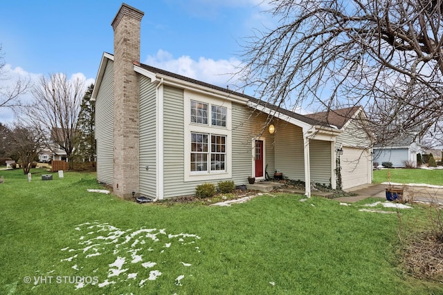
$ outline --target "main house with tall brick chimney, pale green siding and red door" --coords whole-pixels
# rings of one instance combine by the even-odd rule
[[[152,198],[193,195],[204,182],[248,176],[265,169],[293,180],[336,187],[337,151],[343,146],[343,189],[372,182],[370,137],[360,108],[342,124],[267,104],[248,95],[140,64],[143,12],[124,4],[114,28],[114,55],[104,53],[96,100],[97,179],[114,193]],[[273,125],[274,132],[269,132]],[[358,161],[357,161],[358,160]],[[356,173],[359,171],[358,180]],[[361,171],[361,172],[360,172]],[[361,173],[361,175],[360,175]]]

